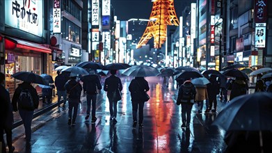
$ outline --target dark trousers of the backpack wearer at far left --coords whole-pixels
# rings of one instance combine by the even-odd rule
[[[29,143],[31,141],[31,122],[33,119],[34,111],[25,111],[19,109],[19,115],[22,118],[24,124],[24,132],[26,134],[26,142]]]

